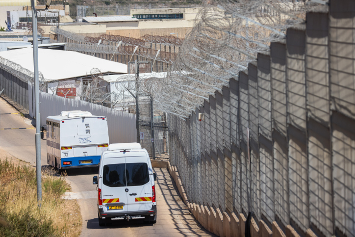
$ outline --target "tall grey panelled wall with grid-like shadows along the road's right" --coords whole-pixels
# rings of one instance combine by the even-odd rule
[[[355,2],[330,1],[189,119],[169,114],[190,202],[355,237]]]

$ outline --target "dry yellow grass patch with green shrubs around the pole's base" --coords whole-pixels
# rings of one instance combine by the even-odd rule
[[[61,196],[70,186],[66,174],[42,172],[42,204],[37,205],[36,170],[0,160],[0,236],[79,236],[81,215],[76,200]]]

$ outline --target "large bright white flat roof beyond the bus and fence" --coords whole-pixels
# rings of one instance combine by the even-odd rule
[[[0,52],[0,56],[33,72],[33,48]],[[83,53],[38,49],[38,68],[47,80],[84,77],[93,68],[101,73],[127,74],[127,65],[93,57]]]

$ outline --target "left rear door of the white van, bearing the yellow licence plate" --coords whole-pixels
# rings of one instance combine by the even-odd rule
[[[122,154],[122,153],[121,153]],[[114,157],[116,156],[116,157]],[[105,154],[102,158],[102,209],[104,212],[123,212],[127,209],[125,157]]]

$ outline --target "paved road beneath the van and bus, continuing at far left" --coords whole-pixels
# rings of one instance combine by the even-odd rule
[[[0,148],[12,156],[30,162],[35,166],[35,129],[33,121],[22,117],[11,105],[0,98]],[[1,130],[15,128],[16,130]],[[46,140],[41,140],[41,164],[47,166]],[[175,183],[166,169],[154,168],[157,174],[155,183],[157,195],[157,222],[143,224],[141,220],[118,221],[108,227],[100,227],[97,214],[96,185],[92,177],[98,168],[68,169],[67,182],[72,191],[66,194],[68,199],[77,199],[81,209],[81,236],[213,236],[204,230],[191,215],[177,193]]]

